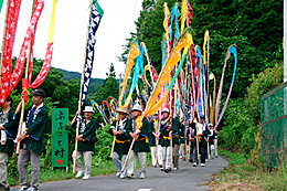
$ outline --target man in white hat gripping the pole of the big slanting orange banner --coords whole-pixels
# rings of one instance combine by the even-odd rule
[[[139,178],[146,178],[146,169],[147,169],[147,155],[149,152],[149,140],[148,136],[151,134],[150,123],[146,117],[142,119],[142,127],[140,129],[137,128],[137,118],[141,115],[142,109],[140,105],[135,105],[131,109],[132,118],[130,123],[127,125],[126,135],[130,136],[132,139],[136,138],[135,145],[129,156],[128,168],[127,168],[127,177],[135,178],[136,165],[137,165],[137,156],[139,158],[140,169],[139,169]]]

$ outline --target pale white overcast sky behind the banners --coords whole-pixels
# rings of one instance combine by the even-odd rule
[[[23,0],[17,29],[13,55],[18,56],[29,26],[33,0]],[[82,72],[84,63],[86,30],[89,18],[91,0],[57,0],[55,13],[54,53],[52,66],[67,71]],[[3,8],[6,8],[6,2]],[[116,74],[125,73],[126,65],[117,56],[123,53],[123,44],[136,31],[135,21],[139,17],[142,0],[98,0],[105,13],[96,34],[95,61],[92,77],[106,78],[106,72],[113,62]],[[45,7],[39,21],[34,45],[34,56],[44,59],[52,0],[45,0]],[[0,44],[2,44],[4,10],[0,14]]]

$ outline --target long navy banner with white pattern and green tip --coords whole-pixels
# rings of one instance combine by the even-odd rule
[[[95,55],[95,44],[96,44],[96,32],[100,23],[100,19],[104,14],[104,10],[99,7],[97,0],[93,3],[91,18],[89,18],[89,28],[88,28],[88,39],[87,39],[87,49],[86,49],[86,61],[85,61],[85,75],[83,84],[83,94],[81,99],[81,108],[85,106],[89,79],[93,71],[94,55]]]

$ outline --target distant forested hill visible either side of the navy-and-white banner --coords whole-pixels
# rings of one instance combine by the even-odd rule
[[[64,76],[63,76],[64,81],[71,81],[73,78],[78,78],[78,82],[81,81],[82,74],[78,72],[70,72],[70,71],[62,70],[62,68],[57,68],[57,70],[64,74]],[[99,87],[102,85],[104,85],[104,81],[105,79],[103,79],[103,78],[91,78],[91,83],[88,86],[88,93],[89,94],[96,93],[99,89]]]

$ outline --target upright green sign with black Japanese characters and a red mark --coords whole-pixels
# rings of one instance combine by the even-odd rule
[[[52,109],[52,167],[68,166],[67,108]]]

